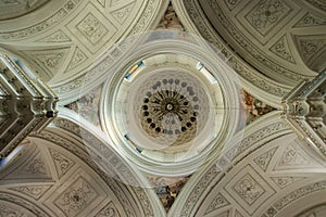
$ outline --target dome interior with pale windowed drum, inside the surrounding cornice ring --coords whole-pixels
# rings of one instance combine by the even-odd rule
[[[180,56],[187,61],[168,61]],[[196,68],[197,62],[180,54],[154,55],[138,62],[138,72],[126,74],[117,88],[116,99],[123,103],[114,106],[116,119],[122,120],[117,131],[146,157],[185,159],[214,139],[210,130],[216,128],[217,103],[210,95],[218,91],[221,95],[221,90]]]

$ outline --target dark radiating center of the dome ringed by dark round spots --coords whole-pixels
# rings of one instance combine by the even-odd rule
[[[191,131],[197,125],[199,110],[199,98],[191,86],[179,79],[163,79],[146,92],[140,110],[142,127],[150,135]]]

